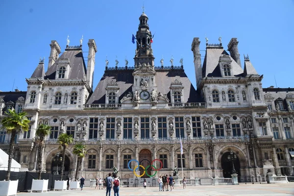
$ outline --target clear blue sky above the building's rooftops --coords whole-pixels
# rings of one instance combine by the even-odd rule
[[[293,0],[145,0],[145,13],[153,40],[155,66],[163,56],[165,65],[184,59],[184,69],[196,86],[191,44],[199,37],[202,59],[205,34],[209,43],[224,49],[232,37],[238,38],[241,62],[243,54],[259,74],[264,74],[263,87],[294,87],[294,1]],[[88,55],[88,39],[95,39],[98,52],[94,88],[104,69],[107,55],[109,67],[134,65],[135,45],[132,33],[138,30],[143,0],[1,0],[0,1],[0,90],[16,87],[26,91],[29,78],[45,57],[47,69],[50,41],[56,40],[61,50],[79,45],[84,36],[84,56]],[[202,60],[203,62],[203,60]],[[13,88],[13,82],[14,88]]]

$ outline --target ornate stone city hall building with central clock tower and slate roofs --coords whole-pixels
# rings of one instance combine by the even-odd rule
[[[152,34],[143,13],[136,33],[134,64],[109,67],[93,88],[97,45],[88,42],[87,64],[80,46],[61,47],[51,41],[49,64],[44,60],[30,78],[27,92],[0,92],[0,118],[14,108],[31,120],[29,132],[18,133],[15,159],[23,171],[35,171],[37,148],[34,134],[39,123],[48,123],[51,134],[44,151],[44,172],[60,172],[56,154],[60,133],[72,134],[74,144],[84,143],[87,155],[80,175],[105,176],[115,166],[122,178],[134,178],[138,160],[145,168],[152,162],[156,177],[183,168],[186,178],[231,177],[231,152],[239,180],[275,174],[293,175],[294,88],[263,88],[262,78],[244,56],[242,68],[237,38],[228,44],[206,43],[203,64],[199,38],[192,48],[195,88],[182,59],[159,66],[154,61]],[[159,63],[159,62],[158,62]],[[169,66],[166,66],[169,64]],[[183,147],[181,164],[180,137]],[[10,136],[0,128],[0,147],[7,150]],[[74,144],[66,152],[65,173],[76,167]],[[58,167],[59,166],[59,167]],[[129,170],[129,168],[131,170]],[[136,172],[142,175],[143,171]],[[154,171],[147,170],[148,175]],[[142,177],[148,177],[144,174]],[[182,176],[182,173],[179,172]]]

